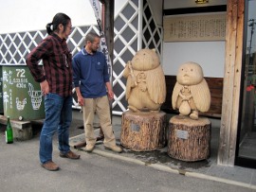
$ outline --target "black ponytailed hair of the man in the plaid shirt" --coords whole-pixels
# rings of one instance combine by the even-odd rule
[[[59,12],[57,13],[54,17],[51,23],[48,23],[46,25],[46,30],[47,33],[50,35],[53,31],[57,31],[59,30],[58,26],[60,24],[64,25],[64,30],[65,30],[65,26],[68,24],[68,22],[70,21],[70,17],[68,17],[66,14]],[[52,26],[52,28],[50,27]]]

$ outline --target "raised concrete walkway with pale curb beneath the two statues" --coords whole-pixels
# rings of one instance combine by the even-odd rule
[[[182,162],[168,156],[167,147],[155,151],[136,152],[128,148],[123,148],[122,153],[114,153],[105,150],[102,142],[98,142],[93,153],[101,156],[115,158],[129,163],[135,163],[140,166],[150,166],[157,170],[170,173],[181,174],[188,177],[200,178],[215,182],[229,183],[237,186],[247,187],[256,190],[256,170],[240,166],[217,166],[219,119],[210,119],[211,121],[211,145],[210,158],[199,162]],[[113,129],[119,144],[121,129],[121,117],[113,116]],[[96,130],[96,135],[98,131]],[[84,141],[84,134],[77,135],[70,139],[70,145]],[[84,148],[81,148],[82,150]]]

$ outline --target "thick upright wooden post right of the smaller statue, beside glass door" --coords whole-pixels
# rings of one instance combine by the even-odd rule
[[[218,164],[234,166],[240,103],[245,0],[228,0],[226,64]]]

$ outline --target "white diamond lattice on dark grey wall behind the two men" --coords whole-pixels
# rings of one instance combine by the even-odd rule
[[[147,13],[149,15],[146,15]],[[126,62],[132,60],[137,50],[141,48],[155,48],[161,59],[162,27],[156,25],[154,14],[146,0],[127,1],[116,15],[112,72],[115,96],[112,113],[121,114],[127,109],[126,82],[122,78]],[[67,39],[73,55],[81,50],[84,37],[90,31],[99,32],[98,26],[74,26]],[[46,30],[0,34],[0,64],[26,64],[27,54],[46,36]],[[81,109],[77,105],[75,95],[73,101],[73,108]]]

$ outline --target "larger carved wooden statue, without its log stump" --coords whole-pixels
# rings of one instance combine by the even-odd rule
[[[158,112],[165,101],[165,77],[155,49],[137,51],[123,71],[126,99],[133,112]]]

